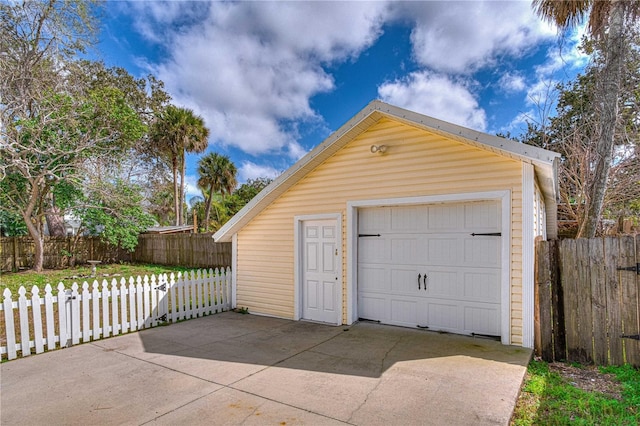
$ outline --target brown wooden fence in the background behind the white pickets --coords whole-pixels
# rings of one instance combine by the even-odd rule
[[[31,237],[0,237],[0,271],[33,266]],[[231,266],[231,243],[216,243],[211,234],[141,234],[133,253],[100,241],[99,237],[45,237],[44,268],[86,265],[87,260],[177,265],[188,268]]]

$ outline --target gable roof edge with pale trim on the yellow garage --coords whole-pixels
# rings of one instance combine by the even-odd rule
[[[560,154],[478,132],[374,100],[258,193],[213,234],[213,238],[219,242],[231,241],[233,234],[242,229],[275,199],[382,118],[389,118],[471,146],[533,164],[545,202],[547,205],[551,204],[554,208],[553,211],[555,211],[557,159]],[[555,220],[550,222],[555,225]]]

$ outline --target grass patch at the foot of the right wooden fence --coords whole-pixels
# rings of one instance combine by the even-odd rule
[[[640,370],[532,361],[512,425],[638,425]]]

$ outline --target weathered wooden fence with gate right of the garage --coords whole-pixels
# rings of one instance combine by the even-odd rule
[[[640,367],[640,235],[538,241],[536,354]]]

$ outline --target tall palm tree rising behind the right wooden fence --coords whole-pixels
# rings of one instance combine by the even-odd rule
[[[603,64],[595,93],[595,104],[599,108],[595,126],[599,131],[594,135],[597,158],[593,182],[586,197],[586,216],[578,230],[579,237],[591,238],[598,228],[613,158],[623,67],[629,46],[625,23],[632,24],[637,20],[640,1],[533,0],[533,7],[539,16],[561,29],[575,27],[588,15],[589,34],[602,43],[599,54]],[[632,27],[629,25],[628,28]]]

